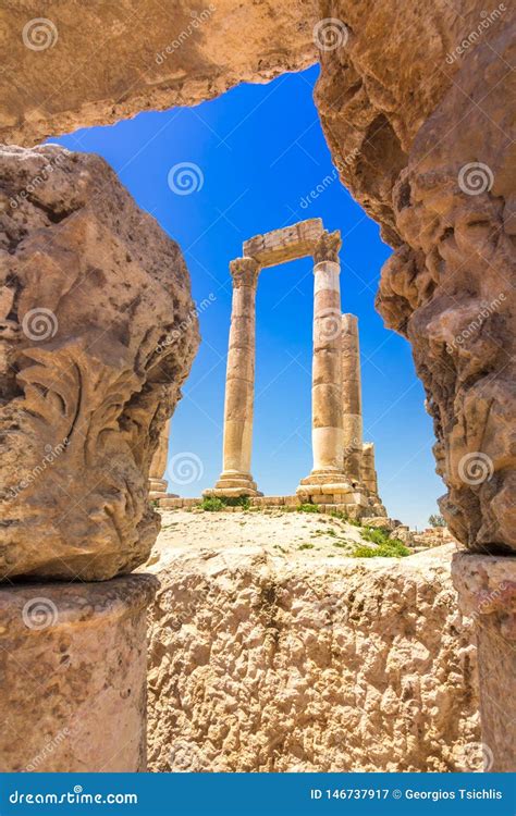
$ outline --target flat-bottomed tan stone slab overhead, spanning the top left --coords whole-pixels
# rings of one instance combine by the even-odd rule
[[[7,0],[0,136],[33,145],[142,110],[196,104],[317,60],[316,0]]]

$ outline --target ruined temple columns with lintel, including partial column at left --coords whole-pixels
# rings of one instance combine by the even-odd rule
[[[311,503],[352,518],[386,516],[378,495],[374,447],[364,443],[358,320],[342,314],[339,231],[321,219],[256,235],[231,261],[233,300],[225,381],[222,473],[205,496],[263,494],[251,475],[255,398],[256,292],[260,270],[298,258],[314,258],[314,358],[311,472],[300,480],[297,503]],[[168,428],[150,472],[151,495],[164,497]],[[271,497],[277,498],[277,497]],[[267,504],[267,497],[260,504]],[[170,503],[169,505],[170,506]]]

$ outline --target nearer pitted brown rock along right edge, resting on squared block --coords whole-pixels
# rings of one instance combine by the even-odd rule
[[[427,391],[447,527],[483,553],[516,548],[511,37],[502,29],[465,58],[419,131],[393,191],[405,243],[378,298]]]

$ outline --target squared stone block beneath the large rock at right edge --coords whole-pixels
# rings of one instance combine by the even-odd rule
[[[452,578],[475,621],[483,770],[516,771],[516,557],[456,553]]]

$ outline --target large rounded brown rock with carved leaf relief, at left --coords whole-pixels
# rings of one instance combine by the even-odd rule
[[[0,150],[0,577],[128,572],[198,345],[181,251],[96,156]],[[41,183],[45,178],[45,183]]]

